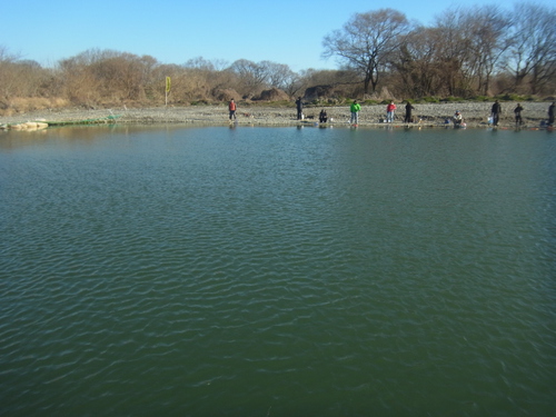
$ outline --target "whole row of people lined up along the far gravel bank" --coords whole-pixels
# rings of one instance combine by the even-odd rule
[[[230,121],[237,120],[236,111],[237,111],[237,105],[234,101],[234,99],[230,100],[229,102],[229,118]],[[301,97],[298,97],[296,100],[296,108],[297,108],[297,120],[302,120],[304,118],[304,102]],[[409,101],[406,103],[406,115],[404,118],[404,123],[411,123],[415,121],[413,118],[411,111],[415,110],[415,107],[411,106]],[[387,106],[386,106],[386,119],[385,122],[391,123],[394,122],[395,113],[396,113],[396,105],[394,103],[394,100],[391,100]],[[357,102],[357,100],[354,100],[354,102],[349,106],[349,111],[351,113],[351,117],[349,119],[349,122],[351,125],[358,125],[359,123],[359,111],[361,110],[361,105]],[[515,116],[515,122],[516,126],[522,126],[523,125],[523,117],[522,112],[524,111],[524,108],[522,107],[520,103],[517,103],[516,108],[514,109],[514,116]],[[547,126],[553,127],[554,126],[554,111],[555,111],[555,101],[552,102],[552,105],[548,107],[548,122]],[[499,119],[502,116],[502,106],[498,100],[496,100],[490,109],[490,118],[489,122],[493,126],[498,126]],[[319,122],[326,123],[328,121],[328,115],[325,109],[322,109],[319,113]],[[451,117],[451,121],[454,122],[454,126],[460,127],[464,126],[464,117],[461,112],[458,110],[456,113]],[[447,121],[448,122],[448,121]]]

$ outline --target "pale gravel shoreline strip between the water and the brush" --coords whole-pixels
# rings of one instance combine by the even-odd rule
[[[414,105],[414,117],[420,120],[420,126],[445,126],[445,120],[450,118],[456,110],[461,111],[467,127],[487,127],[490,116],[492,102],[460,102],[460,103],[426,103]],[[502,117],[499,127],[515,127],[514,109],[516,102],[502,102]],[[547,119],[550,102],[524,102],[523,120],[525,127],[538,127]],[[394,126],[405,126],[405,103],[398,103]],[[240,125],[260,126],[296,126],[299,123],[315,123],[321,107],[306,107],[306,119],[296,119],[296,109],[290,107],[238,106],[237,116]],[[332,125],[347,125],[349,122],[349,107],[337,106],[325,108]],[[228,125],[228,109],[221,106],[191,106],[191,107],[158,107],[158,108],[112,108],[102,110],[42,110],[24,115],[0,117],[0,125],[14,125],[27,121],[46,120],[51,122],[79,122],[82,120],[103,119],[116,116],[118,123],[195,123],[195,125]],[[380,126],[386,116],[386,106],[363,106],[359,112],[359,126]],[[415,123],[411,123],[415,125]]]

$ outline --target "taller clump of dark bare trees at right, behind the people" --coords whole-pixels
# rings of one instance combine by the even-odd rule
[[[387,83],[406,97],[553,95],[555,21],[555,8],[533,3],[448,10],[431,27],[380,9],[329,33],[324,56],[357,71],[365,93]]]

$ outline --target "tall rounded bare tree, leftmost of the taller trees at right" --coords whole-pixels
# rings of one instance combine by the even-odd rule
[[[363,76],[364,92],[376,91],[380,71],[387,68],[391,53],[409,31],[406,16],[393,9],[356,13],[322,40],[324,58],[337,56],[341,63]]]

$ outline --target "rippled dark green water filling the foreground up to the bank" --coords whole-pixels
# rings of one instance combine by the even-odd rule
[[[556,135],[0,132],[0,415],[549,416]]]

